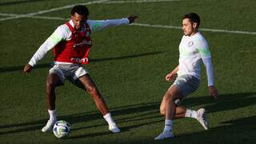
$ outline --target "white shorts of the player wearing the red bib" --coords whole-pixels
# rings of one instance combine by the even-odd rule
[[[49,74],[58,74],[59,78],[64,84],[65,79],[67,78],[70,82],[76,84],[78,78],[89,74],[88,70],[82,67],[79,64],[54,64],[54,66],[49,70]]]

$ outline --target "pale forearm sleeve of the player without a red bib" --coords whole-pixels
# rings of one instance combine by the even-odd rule
[[[214,66],[211,62],[211,58],[202,58],[202,62],[206,66],[208,86],[214,86]]]

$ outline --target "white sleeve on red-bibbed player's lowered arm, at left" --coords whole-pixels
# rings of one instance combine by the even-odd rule
[[[67,26],[65,25],[58,26],[54,33],[51,34],[50,37],[42,43],[42,45],[38,48],[34,56],[30,59],[30,66],[35,66],[38,63],[38,61],[40,61],[49,50],[51,50],[52,48],[54,48],[54,46],[58,44],[58,42],[61,42],[62,40],[66,40],[66,38],[68,38],[68,27],[66,27]]]

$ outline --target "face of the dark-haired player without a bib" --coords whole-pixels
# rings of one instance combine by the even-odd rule
[[[196,33],[197,23],[190,22],[189,18],[184,18],[182,21],[182,30],[184,35],[193,35]]]

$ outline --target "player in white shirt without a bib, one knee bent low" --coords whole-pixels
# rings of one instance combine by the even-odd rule
[[[198,14],[185,14],[182,18],[183,37],[179,44],[178,66],[166,75],[166,81],[173,81],[170,89],[162,98],[160,113],[166,116],[164,130],[155,140],[174,138],[173,121],[174,118],[195,118],[200,122],[205,130],[208,130],[206,122],[206,110],[189,110],[180,106],[183,98],[198,89],[200,83],[201,63],[206,66],[208,89],[210,96],[215,99],[218,91],[214,87],[214,70],[211,62],[208,43],[203,35],[198,31],[200,18]]]

